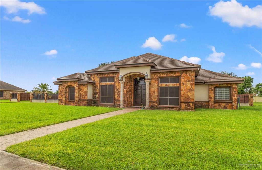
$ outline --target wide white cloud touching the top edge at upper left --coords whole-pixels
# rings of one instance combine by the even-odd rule
[[[5,7],[9,14],[17,13],[19,10],[28,10],[28,15],[32,13],[45,14],[45,8],[40,7],[34,2],[21,1],[1,1],[0,6]]]

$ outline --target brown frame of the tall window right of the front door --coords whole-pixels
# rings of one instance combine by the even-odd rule
[[[179,82],[178,83],[160,83],[160,78],[173,78],[173,77],[178,77]],[[170,79],[168,79],[168,82],[170,82]],[[160,86],[160,84],[168,84],[168,86]],[[178,84],[179,87],[179,94],[178,94],[178,106],[173,106],[173,105],[160,105],[160,87],[168,87],[168,96],[169,96],[169,87],[177,87],[177,86],[170,86],[170,84]],[[181,76],[159,76],[158,77],[158,92],[157,92],[157,106],[158,107],[176,107],[180,108],[181,107]],[[169,97],[168,97],[169,98]],[[169,100],[169,99],[168,99]],[[169,104],[169,102],[168,102]]]

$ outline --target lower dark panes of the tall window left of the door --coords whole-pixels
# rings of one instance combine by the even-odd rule
[[[114,103],[114,85],[100,86],[100,103]]]

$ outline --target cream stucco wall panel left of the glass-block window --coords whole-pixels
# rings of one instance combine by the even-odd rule
[[[195,101],[208,102],[208,84],[195,85]]]

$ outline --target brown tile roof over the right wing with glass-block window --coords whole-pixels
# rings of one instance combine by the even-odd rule
[[[198,76],[195,78],[195,83],[212,83],[212,82],[226,82],[226,81],[244,81],[239,77],[233,77],[226,74],[212,72],[210,70],[200,69]]]

